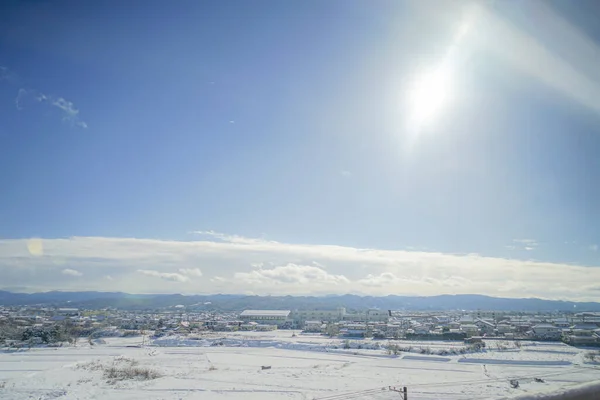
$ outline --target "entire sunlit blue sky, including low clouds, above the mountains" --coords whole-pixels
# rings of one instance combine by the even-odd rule
[[[519,271],[581,268],[577,286],[600,266],[597,6],[431,4],[3,3],[4,287],[401,294],[439,279],[410,260],[439,256],[448,279],[522,264],[501,293],[485,276],[418,293],[594,298]],[[444,91],[417,124],[432,70]],[[392,254],[307,255],[326,245]]]

